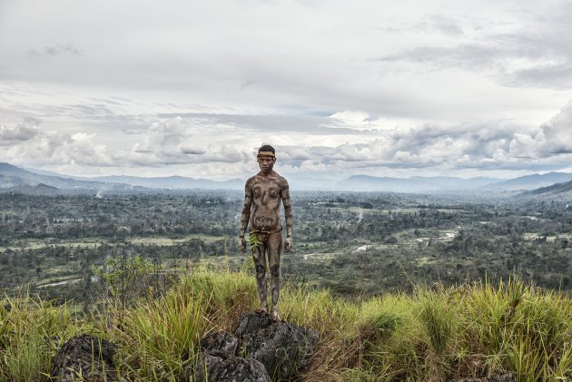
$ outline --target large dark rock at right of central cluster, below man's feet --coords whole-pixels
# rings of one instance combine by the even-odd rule
[[[261,361],[272,380],[278,381],[310,365],[318,337],[316,330],[275,322],[245,335],[242,351],[245,357]]]

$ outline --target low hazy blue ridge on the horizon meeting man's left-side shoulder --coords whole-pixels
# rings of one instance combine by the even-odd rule
[[[91,178],[94,181],[108,181],[113,183],[126,183],[133,186],[149,187],[153,189],[171,190],[242,190],[244,181],[232,179],[231,181],[211,181],[208,179],[185,178],[182,176],[143,178],[138,176],[100,176]]]

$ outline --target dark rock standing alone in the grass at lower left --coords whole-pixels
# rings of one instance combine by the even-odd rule
[[[83,380],[116,381],[113,355],[117,347],[110,341],[89,334],[80,334],[67,340],[52,362],[51,377],[59,382]]]

